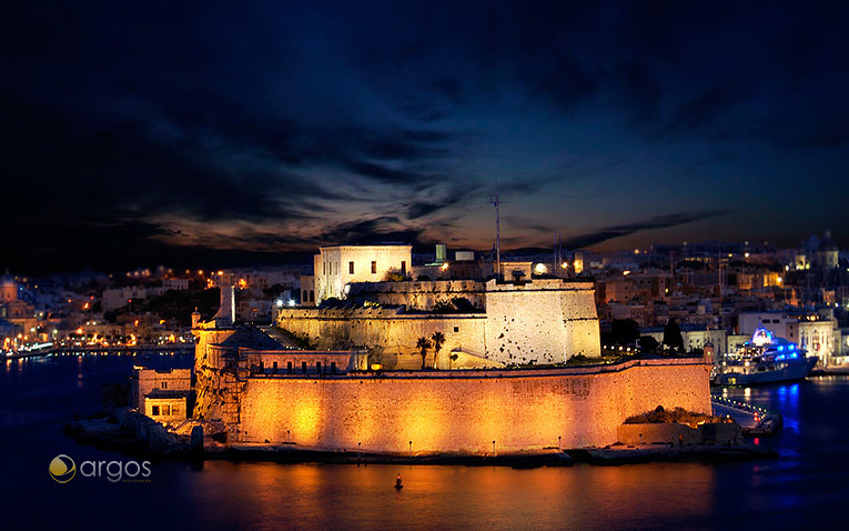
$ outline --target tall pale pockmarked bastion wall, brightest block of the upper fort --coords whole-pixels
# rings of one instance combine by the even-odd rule
[[[592,282],[486,283],[486,355],[504,363],[562,363],[602,355]]]

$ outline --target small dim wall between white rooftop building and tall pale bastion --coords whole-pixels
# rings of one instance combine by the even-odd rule
[[[372,301],[385,305],[406,305],[423,311],[433,310],[438,301],[466,299],[484,310],[484,284],[474,280],[427,280],[415,282],[362,282],[351,284],[347,299]]]

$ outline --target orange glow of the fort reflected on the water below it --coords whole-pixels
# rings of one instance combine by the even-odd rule
[[[714,512],[699,464],[511,470],[206,463],[189,475],[209,523],[269,529],[655,529]],[[401,473],[404,489],[393,485]],[[226,492],[226,497],[223,493]],[[285,495],[281,494],[285,492]],[[685,497],[681,492],[686,492]]]

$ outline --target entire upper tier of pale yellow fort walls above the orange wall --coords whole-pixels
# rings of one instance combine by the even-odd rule
[[[452,291],[445,291],[452,284]],[[356,289],[380,291],[413,304],[474,290],[475,282],[400,282]],[[420,288],[413,289],[414,284]],[[478,285],[483,285],[477,283]],[[425,293],[426,287],[433,291]],[[442,291],[441,291],[442,290]],[[573,355],[600,355],[598,318],[593,284],[560,279],[535,279],[520,284],[486,283],[485,313],[404,313],[397,308],[316,309],[283,308],[277,324],[307,337],[319,349],[378,349],[390,367],[421,368],[416,341],[434,332],[445,335],[443,351],[459,350],[501,363],[560,363]],[[433,350],[429,353],[432,358]],[[416,362],[416,360],[418,360]],[[433,367],[432,362],[428,365]]]

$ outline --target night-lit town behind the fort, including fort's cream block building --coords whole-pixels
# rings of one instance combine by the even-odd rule
[[[617,252],[504,252],[498,260],[494,252],[445,244],[421,253],[390,244],[362,264],[356,249],[324,247],[312,267],[158,267],[46,278],[7,272],[0,279],[2,350],[188,347],[192,310],[209,319],[222,285],[235,289],[236,322],[270,324],[281,309],[368,303],[374,293],[364,287],[373,282],[479,282],[501,268],[505,279],[594,282],[603,351],[691,354],[709,347],[720,355],[766,327],[817,355],[823,368],[849,360],[849,259],[828,231],[796,249],[684,242]],[[443,311],[481,307],[474,293],[431,302],[427,310],[433,303],[455,305]]]

